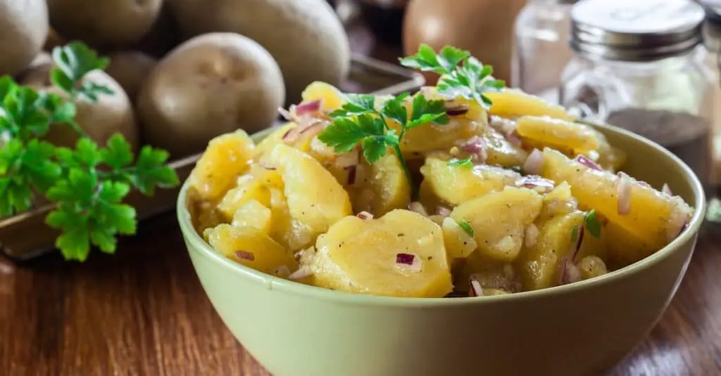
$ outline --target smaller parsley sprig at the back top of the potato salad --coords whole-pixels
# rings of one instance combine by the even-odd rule
[[[474,100],[485,109],[490,109],[492,102],[484,93],[498,91],[505,86],[504,81],[491,76],[492,66],[485,66],[468,51],[451,46],[442,48],[436,54],[433,48],[423,44],[415,55],[401,58],[400,63],[420,71],[441,74],[436,85],[438,93],[449,99],[463,97]]]

